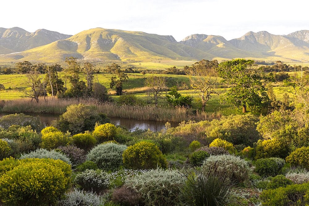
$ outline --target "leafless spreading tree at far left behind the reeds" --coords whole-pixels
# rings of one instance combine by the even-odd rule
[[[35,99],[39,103],[39,97],[44,92],[41,74],[39,72],[31,72],[26,74],[26,77],[27,80],[23,85],[30,87],[30,90],[25,89],[23,97],[29,97],[31,100]]]

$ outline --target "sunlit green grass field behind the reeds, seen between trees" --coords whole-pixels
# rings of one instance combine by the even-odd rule
[[[187,61],[177,61],[181,64],[187,63]],[[151,62],[150,62],[151,63]],[[153,63],[157,64],[157,63]],[[158,63],[162,64],[162,63]],[[165,62],[163,65],[172,64],[172,62]],[[150,64],[149,64],[150,65]],[[295,72],[290,72],[295,73]],[[299,72],[296,72],[299,74]],[[149,76],[165,76],[167,80],[167,86],[172,87],[174,85],[182,86],[183,84],[189,84],[189,78],[185,75],[167,75],[167,74],[146,74],[145,76],[139,73],[129,73],[129,80],[124,84],[124,90],[128,91],[128,93],[134,94],[136,97],[146,102],[150,97],[147,96],[145,90],[145,80]],[[62,80],[65,80],[64,74],[62,72],[59,73],[59,76]],[[108,88],[108,93],[114,94],[114,89],[110,89],[109,83],[110,78],[113,76],[112,74],[97,74],[95,75],[95,82],[99,82]],[[81,75],[81,79],[85,81],[85,77]],[[23,89],[25,86],[23,82],[25,82],[25,75],[0,75],[0,83],[5,86],[5,90],[0,92],[0,100],[14,100],[22,98]],[[70,84],[67,85],[70,87]],[[276,95],[277,100],[283,99],[283,94],[286,92],[287,88],[282,86],[282,83],[275,83],[273,87],[274,93]],[[218,89],[218,91],[222,92],[224,89]],[[142,93],[139,93],[142,92]],[[195,93],[193,90],[180,90],[179,91],[183,95],[193,96],[193,108],[199,109],[201,108],[201,98],[199,93]],[[163,95],[164,96],[164,95]],[[119,96],[112,95],[112,97],[117,101]],[[241,113],[239,109],[231,108],[230,105],[224,105],[220,101],[221,95],[213,95],[213,97],[207,102],[205,107],[205,112],[217,112],[220,111],[223,115],[230,115],[232,113]],[[294,95],[289,93],[289,97],[292,99]],[[167,105],[167,101],[164,99],[160,100],[160,105]]]

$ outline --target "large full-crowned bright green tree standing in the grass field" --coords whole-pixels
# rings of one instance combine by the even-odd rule
[[[235,59],[221,62],[218,73],[223,82],[232,85],[224,96],[225,101],[242,107],[243,113],[247,112],[248,106],[258,110],[269,103],[265,86],[273,81],[273,76],[267,76],[253,60]]]

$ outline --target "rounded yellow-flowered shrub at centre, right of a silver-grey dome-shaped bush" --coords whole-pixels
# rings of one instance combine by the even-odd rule
[[[167,168],[167,161],[158,146],[151,142],[139,142],[123,152],[124,166],[131,169]]]

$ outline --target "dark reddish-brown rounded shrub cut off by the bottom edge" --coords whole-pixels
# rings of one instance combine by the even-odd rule
[[[112,194],[112,201],[120,205],[141,205],[142,199],[132,188],[122,186]]]

